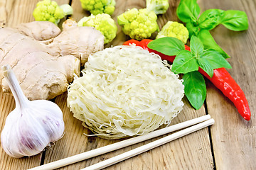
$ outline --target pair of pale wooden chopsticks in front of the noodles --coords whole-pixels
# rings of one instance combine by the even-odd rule
[[[214,120],[210,118],[210,115],[203,115],[199,118],[188,120],[188,121],[183,122],[183,123],[178,123],[176,125],[171,125],[169,127],[166,127],[166,128],[160,129],[160,130],[156,130],[154,132],[150,132],[146,135],[132,137],[128,140],[123,140],[121,142],[117,142],[117,143],[114,143],[112,145],[107,145],[105,147],[100,147],[100,148],[97,148],[97,149],[93,149],[93,150],[90,150],[88,152],[84,152],[82,154],[77,154],[77,155],[74,155],[72,157],[67,157],[67,158],[64,158],[64,159],[60,159],[58,161],[50,162],[48,164],[37,166],[35,168],[28,169],[28,170],[58,169],[62,166],[66,166],[66,165],[69,165],[69,164],[74,164],[76,162],[80,162],[80,161],[85,160],[85,159],[96,157],[100,154],[105,154],[107,152],[112,152],[114,150],[121,149],[122,147],[127,147],[129,145],[134,145],[134,144],[137,144],[139,142],[143,142],[145,140],[149,140],[151,138],[158,137],[160,135],[165,135],[169,132],[174,132],[176,130],[180,130],[180,131],[175,132],[171,135],[163,137],[159,140],[156,140],[154,142],[150,142],[149,144],[143,145],[142,147],[137,147],[137,148],[132,149],[128,152],[124,152],[123,154],[119,154],[116,157],[106,159],[105,161],[99,162],[97,164],[93,164],[92,166],[87,166],[85,169],[81,169],[81,170],[103,169],[107,166],[111,166],[112,164],[122,162],[125,159],[128,159],[130,157],[134,157],[138,154],[146,152],[150,149],[154,149],[155,147],[159,147],[161,145],[164,145],[167,142],[171,142],[172,140],[176,140],[179,137],[183,137],[183,136],[188,135],[192,132],[196,132],[197,130],[201,130],[203,128],[206,128],[209,125],[213,125],[213,123],[214,123]],[[181,130],[181,129],[183,129],[183,130]]]

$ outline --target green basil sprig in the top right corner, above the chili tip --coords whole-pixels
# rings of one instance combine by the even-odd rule
[[[230,30],[247,30],[248,18],[246,13],[238,10],[224,11],[213,8],[203,11],[199,16],[200,11],[196,0],[181,0],[176,12],[178,18],[186,23],[190,38],[192,35],[197,36],[206,49],[216,50],[223,57],[229,58],[230,56],[215,42],[209,30],[220,24]]]

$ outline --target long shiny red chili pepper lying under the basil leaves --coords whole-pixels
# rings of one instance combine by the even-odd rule
[[[164,55],[161,52],[157,52],[148,48],[147,45],[151,41],[152,40],[149,39],[144,39],[142,41],[129,40],[127,42],[124,42],[123,45],[129,45],[134,43],[135,45],[140,46],[145,50],[149,50],[149,52],[154,52],[160,55],[162,60],[174,62],[176,56]],[[185,45],[185,50],[190,50],[190,47]],[[238,109],[238,112],[240,113],[240,115],[242,115],[242,118],[244,118],[245,120],[250,120],[251,113],[245,94],[225,68],[214,69],[213,77],[211,78],[201,68],[198,69],[198,72],[200,72],[201,74],[203,74],[203,76],[209,79],[218,89],[220,89],[220,91],[223,92],[226,97],[230,99],[230,101],[234,103],[235,107]]]

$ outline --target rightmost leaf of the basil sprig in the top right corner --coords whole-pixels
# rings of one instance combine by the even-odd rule
[[[230,30],[247,30],[248,29],[248,18],[244,11],[228,10],[223,13],[221,20],[223,26]]]

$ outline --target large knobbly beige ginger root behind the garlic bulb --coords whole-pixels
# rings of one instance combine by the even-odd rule
[[[70,24],[73,23],[73,24]],[[67,91],[87,57],[103,50],[104,36],[95,28],[63,23],[63,32],[48,21],[0,28],[0,67],[9,64],[30,100],[50,99]],[[0,72],[0,84],[9,86]]]

